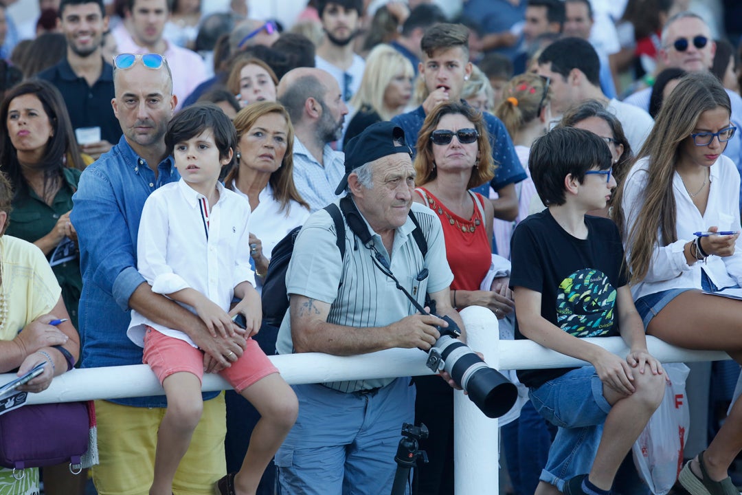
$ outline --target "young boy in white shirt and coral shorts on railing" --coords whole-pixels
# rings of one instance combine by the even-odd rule
[[[215,105],[194,105],[168,125],[165,145],[181,179],[148,197],[137,238],[139,272],[153,292],[167,295],[199,317],[214,337],[239,336],[218,373],[262,416],[242,468],[217,482],[216,493],[254,494],[260,476],[289,433],[298,413],[296,396],[250,338],[260,329],[260,295],[249,263],[247,200],[219,183],[232,162],[237,134]],[[232,298],[240,299],[231,310]],[[241,324],[232,317],[243,317]],[[128,336],[144,347],[144,359],[160,379],[168,408],[157,435],[150,495],[171,495],[180,459],[203,410],[204,355],[184,332],[132,311]]]

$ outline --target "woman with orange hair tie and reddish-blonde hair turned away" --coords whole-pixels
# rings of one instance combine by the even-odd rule
[[[551,91],[548,77],[533,73],[513,77],[502,91],[502,102],[497,106],[495,115],[502,120],[515,145],[521,165],[528,176],[516,184],[518,194],[518,216],[512,222],[495,219],[493,223],[494,242],[497,254],[510,259],[510,237],[515,226],[528,217],[528,209],[533,197],[538,198],[536,187],[528,170],[528,155],[531,144],[537,137],[546,134],[551,122]],[[539,209],[540,211],[540,209]],[[535,487],[535,485],[534,485]]]

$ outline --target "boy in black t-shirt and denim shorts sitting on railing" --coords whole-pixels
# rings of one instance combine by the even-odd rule
[[[536,410],[559,427],[536,495],[606,495],[662,401],[665,378],[647,352],[618,229],[585,216],[605,208],[616,187],[605,141],[557,128],[533,143],[528,166],[548,209],[513,233],[516,338],[591,364],[518,372]],[[626,360],[582,340],[611,335],[626,341]]]

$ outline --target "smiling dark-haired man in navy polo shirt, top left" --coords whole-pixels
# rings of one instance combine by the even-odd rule
[[[102,0],[62,0],[58,15],[57,26],[67,38],[67,56],[38,77],[62,93],[73,128],[99,129],[97,140],[79,142],[80,151],[98,158],[121,138],[111,108],[114,68],[102,56],[108,16]]]

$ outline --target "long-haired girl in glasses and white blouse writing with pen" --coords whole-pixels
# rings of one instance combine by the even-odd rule
[[[619,185],[613,216],[631,292],[649,335],[742,363],[742,302],[714,297],[742,285],[740,175],[723,156],[736,128],[729,96],[710,73],[690,73],[666,99],[639,160]],[[680,472],[692,495],[738,495],[727,474],[742,450],[742,401],[709,448]]]

